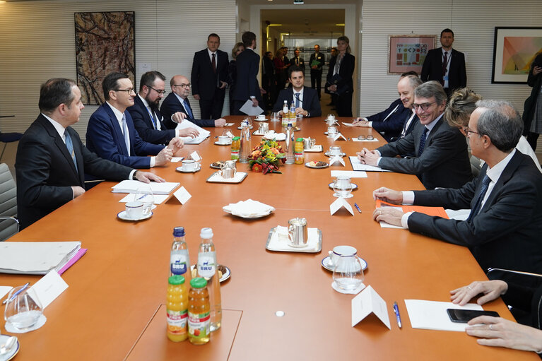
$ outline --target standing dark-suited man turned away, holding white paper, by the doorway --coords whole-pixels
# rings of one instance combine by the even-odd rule
[[[235,115],[243,115],[240,111],[247,100],[252,100],[252,106],[257,107],[261,102],[261,91],[258,83],[260,56],[254,52],[256,34],[245,31],[242,35],[245,51],[237,55],[237,81],[233,93]]]

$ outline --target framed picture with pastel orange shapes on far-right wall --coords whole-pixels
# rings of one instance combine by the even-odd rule
[[[527,83],[531,63],[540,52],[542,28],[495,27],[491,83]]]

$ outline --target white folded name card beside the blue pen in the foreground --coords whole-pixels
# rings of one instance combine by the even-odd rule
[[[369,314],[375,314],[391,330],[386,301],[371,286],[367,286],[365,290],[352,299],[352,327]]]

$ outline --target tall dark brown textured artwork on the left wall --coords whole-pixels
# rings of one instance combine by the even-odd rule
[[[105,100],[102,80],[108,73],[126,73],[136,87],[134,11],[74,13],[77,85],[84,105]]]

